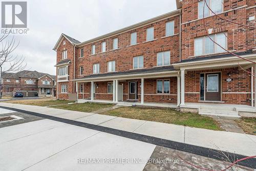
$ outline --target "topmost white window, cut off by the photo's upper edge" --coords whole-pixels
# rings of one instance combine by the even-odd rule
[[[210,9],[216,13],[222,13],[223,12],[223,0],[206,0],[207,5],[210,7]],[[207,7],[205,4],[204,6],[204,1],[198,2],[198,18],[201,19],[204,17],[208,17],[211,15],[215,15],[210,11],[210,9]],[[204,9],[204,14],[203,14],[203,9]]]

